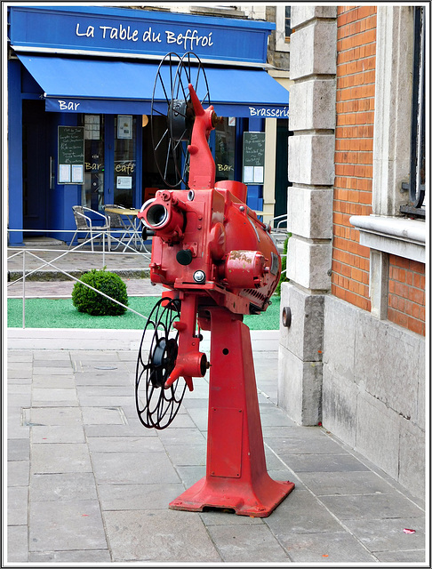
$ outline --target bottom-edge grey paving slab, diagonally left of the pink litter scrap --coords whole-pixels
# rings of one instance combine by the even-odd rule
[[[295,563],[333,565],[356,560],[356,563],[376,564],[378,561],[346,532],[283,533],[277,539]]]

